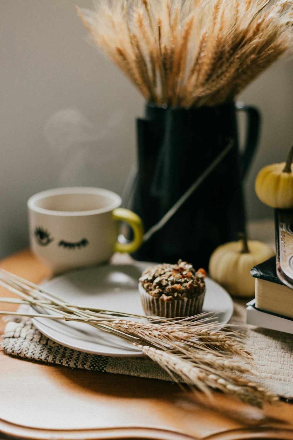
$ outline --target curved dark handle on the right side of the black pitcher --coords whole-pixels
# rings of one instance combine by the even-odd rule
[[[247,114],[247,137],[244,150],[240,154],[241,177],[244,179],[257,149],[260,134],[260,112],[256,107],[246,106],[241,102],[235,104],[235,109]]]

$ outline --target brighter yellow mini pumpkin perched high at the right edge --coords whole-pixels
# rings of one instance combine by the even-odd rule
[[[260,170],[255,180],[257,197],[271,208],[293,208],[293,172],[291,162],[293,146],[286,162],[267,165]]]

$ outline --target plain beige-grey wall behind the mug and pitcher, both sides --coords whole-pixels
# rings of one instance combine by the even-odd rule
[[[87,44],[76,3],[0,1],[0,257],[26,246],[26,200],[43,189],[90,185],[122,193],[135,160],[135,117],[144,101]],[[293,142],[293,63],[274,66],[241,96],[263,115],[260,147],[246,182],[250,218],[271,216],[257,201],[261,166],[282,161]]]

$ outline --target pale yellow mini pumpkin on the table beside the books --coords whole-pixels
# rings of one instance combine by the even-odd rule
[[[250,270],[274,255],[265,243],[256,240],[246,241],[244,235],[237,242],[218,246],[210,257],[209,272],[228,293],[236,297],[254,295],[254,278]]]

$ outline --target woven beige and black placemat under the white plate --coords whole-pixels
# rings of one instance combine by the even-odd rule
[[[276,395],[293,399],[293,335],[243,325],[245,313],[245,302],[236,301],[231,322],[241,324],[242,333],[249,336],[246,344],[254,358],[256,376],[253,380]],[[2,345],[4,353],[10,356],[70,368],[171,381],[169,375],[148,358],[98,356],[63,347],[41,334],[26,317],[7,323]]]

